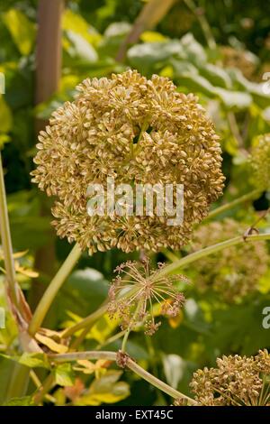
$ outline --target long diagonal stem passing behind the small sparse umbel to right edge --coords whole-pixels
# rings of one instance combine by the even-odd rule
[[[170,263],[169,265],[166,265],[166,267],[160,271],[159,275],[160,276],[168,275],[171,272],[177,272],[180,268],[184,268],[186,265],[193,263],[194,261],[197,261],[198,259],[208,256],[211,253],[220,252],[221,250],[227,249],[228,247],[241,244],[241,243],[257,242],[260,240],[270,240],[270,234],[266,233],[261,235],[247,235],[245,237],[243,235],[238,235],[238,237],[230,238],[229,240],[226,240],[225,242],[213,244],[197,252],[190,253],[187,256],[184,256],[184,258],[178,259],[174,263]],[[132,290],[130,290],[124,297],[129,298],[132,294],[133,292]],[[82,321],[75,324],[75,326],[69,327],[66,330],[64,330],[61,333],[61,336],[62,337],[72,336],[74,333],[76,333],[76,331],[94,324],[94,322],[97,319],[103,317],[103,314],[105,314],[106,311],[107,311],[107,305],[103,305],[100,309],[95,310],[93,314],[89,315],[88,317],[84,318]]]

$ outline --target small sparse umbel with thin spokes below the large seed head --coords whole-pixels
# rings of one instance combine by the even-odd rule
[[[132,328],[143,324],[145,333],[152,336],[160,322],[155,322],[154,303],[161,304],[161,314],[175,317],[184,305],[184,295],[175,288],[183,275],[165,276],[164,264],[158,263],[156,270],[150,269],[148,258],[141,263],[128,261],[118,266],[117,277],[109,290],[109,314],[121,319],[121,328]],[[125,295],[125,296],[124,296]]]

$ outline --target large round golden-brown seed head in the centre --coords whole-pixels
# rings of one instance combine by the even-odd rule
[[[74,102],[52,115],[34,161],[33,181],[56,197],[52,213],[60,237],[89,253],[116,246],[124,252],[180,248],[193,224],[207,216],[223,188],[220,143],[192,94],[168,78],[147,79],[136,70],[85,79]],[[89,184],[183,184],[184,220],[166,216],[87,214]],[[174,199],[175,201],[175,199]]]

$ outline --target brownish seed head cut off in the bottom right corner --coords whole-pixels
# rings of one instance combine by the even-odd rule
[[[190,384],[202,406],[270,406],[270,355],[223,355],[217,368],[193,373]]]

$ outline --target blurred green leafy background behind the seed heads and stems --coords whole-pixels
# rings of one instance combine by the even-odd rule
[[[0,72],[5,77],[5,94],[0,95],[0,148],[14,252],[24,252],[18,259],[19,279],[31,308],[70,250],[50,227],[49,200],[31,185],[37,133],[50,113],[72,98],[82,79],[109,77],[130,67],[146,76],[158,73],[172,78],[179,90],[196,93],[221,138],[227,179],[221,202],[252,189],[247,152],[258,134],[270,132],[269,93],[262,90],[263,76],[270,72],[269,2],[77,0],[64,5],[58,0],[5,0],[0,14]],[[36,57],[40,58],[37,67]],[[255,211],[268,205],[265,193],[253,206],[233,209],[226,217],[248,226]],[[54,329],[69,326],[94,311],[106,297],[112,270],[127,256],[116,250],[93,257],[84,253],[49,310],[46,325]],[[166,257],[159,253],[154,260],[165,261]],[[178,319],[163,318],[164,325],[155,336],[138,332],[128,342],[130,355],[140,364],[186,393],[193,371],[214,364],[218,355],[252,355],[270,346],[270,329],[261,324],[262,310],[270,305],[269,272],[261,279],[260,290],[229,305],[211,291],[199,293],[195,287],[200,276],[195,271],[195,264],[186,270],[192,284],[186,291],[183,314]],[[3,285],[0,290],[4,304]],[[106,345],[116,331],[114,323],[100,319],[87,335],[85,349]],[[6,329],[0,331],[1,350],[12,346],[15,336],[13,320],[8,317]],[[106,349],[119,347],[116,340]],[[10,366],[7,359],[0,360],[3,388]],[[107,379],[108,393],[117,384],[115,373]],[[123,395],[110,397],[103,392],[82,402],[149,405],[168,401],[131,373],[121,380],[128,383],[122,387]],[[90,384],[92,392],[98,392],[96,382],[87,374],[73,380],[76,393]],[[60,386],[55,393],[58,404],[65,402],[65,396],[71,399],[70,392],[68,398],[67,389]]]

